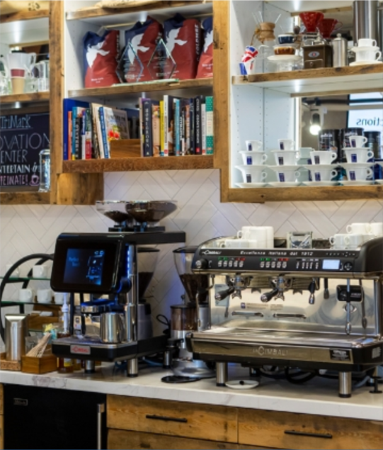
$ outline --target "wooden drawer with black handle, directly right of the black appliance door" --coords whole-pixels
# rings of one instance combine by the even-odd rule
[[[237,409],[108,395],[108,428],[237,442]]]

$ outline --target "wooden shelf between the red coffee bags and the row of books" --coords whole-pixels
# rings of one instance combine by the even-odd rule
[[[137,100],[137,94],[142,92],[150,92],[151,99],[155,99],[156,94],[162,98],[164,91],[172,91],[172,94],[178,96],[182,94],[183,89],[188,89],[190,96],[193,89],[198,89],[201,94],[201,89],[205,89],[207,94],[212,92],[213,79],[185,79],[180,81],[166,81],[164,83],[132,83],[123,84],[121,86],[108,86],[88,89],[74,89],[68,92],[71,99],[83,99],[84,101],[94,101],[94,99],[108,99],[123,100],[133,98]],[[185,93],[183,93],[185,94]],[[189,95],[188,94],[188,95]],[[122,97],[123,96],[123,97]]]

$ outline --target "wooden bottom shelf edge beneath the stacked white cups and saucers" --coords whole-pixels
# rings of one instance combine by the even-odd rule
[[[264,203],[266,201],[355,200],[357,198],[382,200],[383,185],[229,189],[227,201]]]

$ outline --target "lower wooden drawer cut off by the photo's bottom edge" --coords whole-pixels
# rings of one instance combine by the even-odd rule
[[[250,448],[250,447],[248,447]],[[123,432],[120,429],[108,430],[108,450],[225,450],[238,449],[228,442],[204,441],[188,437],[164,436],[153,433]]]

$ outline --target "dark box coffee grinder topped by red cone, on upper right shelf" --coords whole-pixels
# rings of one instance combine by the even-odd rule
[[[333,47],[318,32],[318,25],[324,18],[323,13],[307,11],[300,13],[299,17],[306,28],[303,35],[304,69],[333,67]]]

